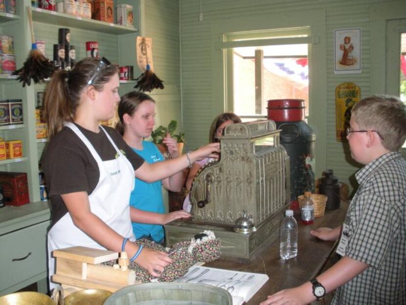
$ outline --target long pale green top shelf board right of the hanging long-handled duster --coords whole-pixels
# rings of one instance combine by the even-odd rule
[[[107,23],[93,19],[72,16],[55,11],[48,11],[42,8],[32,8],[32,18],[35,22],[58,24],[80,28],[83,30],[97,31],[109,34],[130,34],[136,33],[138,29],[114,23]]]

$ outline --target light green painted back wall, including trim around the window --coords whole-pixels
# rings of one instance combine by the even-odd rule
[[[202,11],[203,20],[199,21]],[[209,125],[227,109],[221,33],[311,25],[318,42],[310,63],[310,118],[315,130],[316,176],[333,169],[348,183],[359,164],[335,137],[335,88],[361,87],[361,96],[385,93],[386,21],[406,18],[406,1],[390,0],[180,0],[183,123],[187,149],[207,141]],[[334,74],[334,29],[361,27],[362,72]],[[314,69],[314,67],[317,69]],[[398,75],[399,76],[399,75]],[[397,76],[397,77],[398,77]],[[388,83],[395,81],[388,76]],[[228,107],[228,109],[230,109]],[[352,179],[352,178],[351,178]]]

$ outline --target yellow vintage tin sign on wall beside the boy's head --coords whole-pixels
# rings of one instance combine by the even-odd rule
[[[336,137],[347,141],[345,129],[350,127],[351,109],[360,100],[361,90],[354,83],[342,83],[336,87]]]

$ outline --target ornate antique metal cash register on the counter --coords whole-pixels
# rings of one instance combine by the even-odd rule
[[[245,260],[277,238],[290,202],[289,157],[279,133],[272,120],[227,126],[221,158],[193,181],[192,219],[165,225],[166,245],[212,230],[222,258]]]

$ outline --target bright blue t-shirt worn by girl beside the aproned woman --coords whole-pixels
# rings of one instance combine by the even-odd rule
[[[157,146],[150,141],[142,141],[143,150],[133,150],[140,155],[145,162],[155,163],[164,161],[162,154]],[[130,205],[136,209],[156,212],[163,214],[165,208],[163,206],[161,181],[147,183],[135,178],[135,188],[131,192]],[[135,237],[151,237],[153,240],[159,242],[163,239],[163,227],[161,225],[150,225],[145,223],[133,222],[133,231]]]

